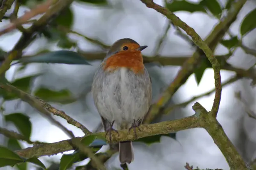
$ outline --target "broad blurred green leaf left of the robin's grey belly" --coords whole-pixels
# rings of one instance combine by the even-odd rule
[[[61,91],[52,91],[47,88],[39,88],[35,91],[35,96],[46,102],[58,102],[61,104],[68,104],[76,101],[70,91],[66,89]]]

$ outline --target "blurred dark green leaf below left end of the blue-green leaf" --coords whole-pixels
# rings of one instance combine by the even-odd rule
[[[31,81],[33,79],[35,79],[36,77],[38,77],[39,75],[41,75],[41,74],[35,74],[32,76],[15,79],[15,81],[12,82],[11,85],[15,86],[16,88],[18,88],[22,91],[28,92],[29,88],[30,88],[29,86],[31,84]]]

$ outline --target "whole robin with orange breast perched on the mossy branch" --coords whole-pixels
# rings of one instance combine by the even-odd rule
[[[113,43],[93,77],[92,96],[102,119],[106,135],[118,130],[134,129],[143,121],[152,100],[151,78],[143,64],[140,46],[135,40],[123,38]],[[141,131],[141,130],[140,130]],[[131,141],[119,142],[119,161],[134,160]]]

